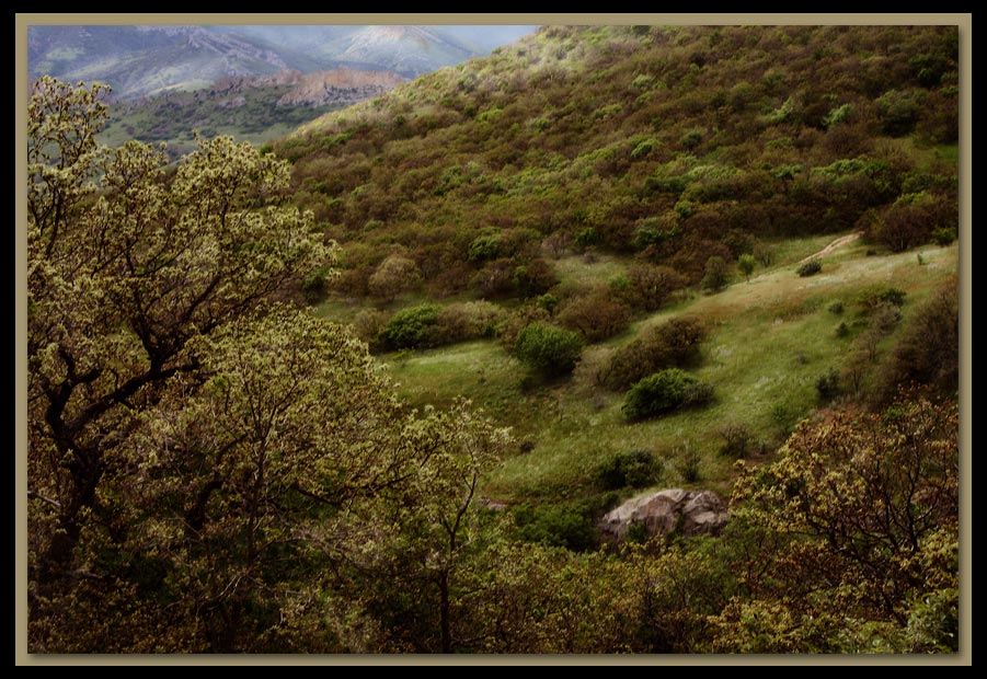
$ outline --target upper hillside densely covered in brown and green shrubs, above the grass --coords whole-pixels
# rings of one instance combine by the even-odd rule
[[[274,148],[351,296],[392,252],[437,296],[542,294],[547,253],[587,248],[695,285],[759,240],[954,229],[956,72],[949,27],[553,26]]]

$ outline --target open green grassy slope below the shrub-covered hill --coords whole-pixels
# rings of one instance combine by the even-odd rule
[[[837,337],[836,327],[857,318],[859,294],[874,286],[905,290],[907,318],[957,267],[956,244],[869,256],[868,245],[856,241],[824,257],[819,274],[801,278],[794,273],[795,262],[835,238],[778,243],[777,264],[750,283],[739,278],[720,294],[688,296],[640,320],[612,343],[629,342],[644,327],[677,315],[704,320],[710,332],[695,373],[715,389],[715,401],[704,408],[629,424],[620,412],[622,394],[586,393],[571,380],[524,388],[523,368],[494,341],[380,358],[390,365],[409,403],[443,407],[467,396],[498,424],[512,427],[519,442],[528,442],[524,452],[519,446],[489,476],[484,494],[490,497],[535,504],[588,498],[601,492],[595,481],[597,469],[612,456],[634,449],[651,450],[665,461],[662,487],[711,487],[728,495],[734,462],[718,454],[719,428],[746,424],[755,450],[748,460],[770,454],[794,424],[818,406],[815,380],[845,358],[851,340]],[[917,261],[918,252],[923,264]],[[560,276],[583,283],[606,280],[623,266],[612,256],[590,264],[566,257]],[[828,310],[837,301],[845,308],[841,315]],[[358,310],[332,302],[320,312],[345,320]],[[681,473],[688,449],[700,456],[700,477],[693,483]]]

